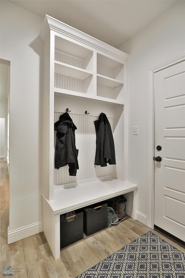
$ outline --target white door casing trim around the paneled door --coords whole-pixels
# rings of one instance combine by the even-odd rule
[[[171,67],[185,60],[185,53],[165,63],[149,69],[148,72],[148,173],[147,173],[147,221],[146,225],[154,227],[154,73]],[[137,212],[136,212],[137,214]]]

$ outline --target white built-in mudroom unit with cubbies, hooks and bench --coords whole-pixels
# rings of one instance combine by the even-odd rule
[[[55,259],[60,257],[60,216],[129,193],[135,219],[137,185],[126,179],[127,60],[129,55],[48,15],[40,30],[44,47],[42,227]],[[56,123],[68,113],[77,129],[76,175],[55,169]],[[95,121],[106,115],[116,164],[95,165]]]

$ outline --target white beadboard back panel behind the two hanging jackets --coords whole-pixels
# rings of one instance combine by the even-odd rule
[[[58,121],[63,113],[54,113],[54,121]],[[96,132],[94,121],[98,120],[97,116],[77,115],[69,113],[77,130],[75,131],[76,148],[78,153],[79,170],[76,177],[69,176],[69,166],[61,167],[59,170],[54,169],[54,184],[67,184],[75,181],[86,180],[95,177],[102,177],[113,174],[113,165],[107,164],[107,167],[95,167],[96,153]],[[108,118],[111,128],[113,119]],[[56,131],[54,132],[54,144],[56,144]]]

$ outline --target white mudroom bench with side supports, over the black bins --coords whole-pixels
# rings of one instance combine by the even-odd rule
[[[60,215],[82,207],[108,200],[133,191],[132,218],[136,213],[138,186],[119,179],[80,182],[64,185],[54,190],[54,198],[48,201],[42,195],[43,231],[55,259],[60,258]]]

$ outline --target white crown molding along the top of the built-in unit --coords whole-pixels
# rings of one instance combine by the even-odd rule
[[[40,30],[40,34],[39,34],[39,37],[43,42],[45,41],[49,30],[56,31],[60,34],[68,36],[71,39],[75,39],[76,41],[79,41],[88,46],[94,47],[97,50],[100,50],[107,54],[114,54],[114,56],[116,56],[117,58],[119,58],[125,62],[128,61],[129,54],[127,54],[111,45],[108,45],[107,43],[104,43],[103,41],[100,41],[88,34],[85,34],[84,32],[77,30],[76,28],[71,27],[71,26],[67,25],[66,23],[63,23],[62,21],[59,21],[58,19],[50,17],[49,15],[46,14],[42,28]]]

